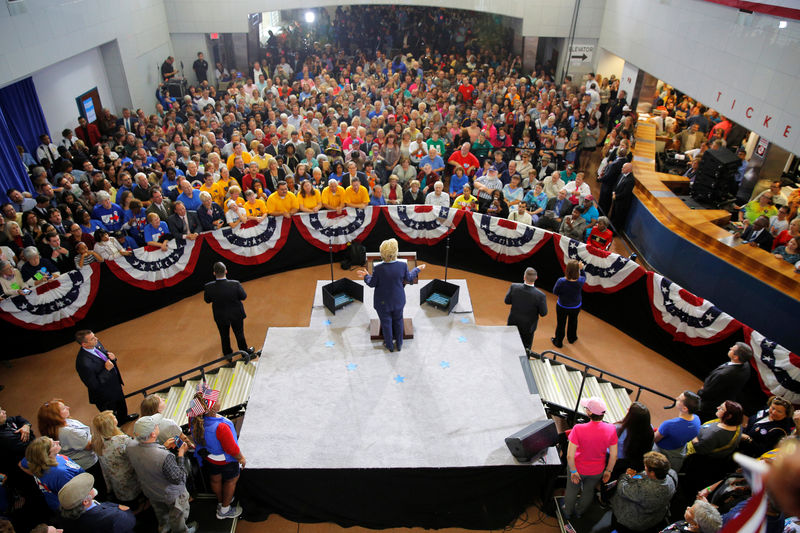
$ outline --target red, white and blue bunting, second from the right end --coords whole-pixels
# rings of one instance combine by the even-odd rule
[[[647,291],[656,323],[676,341],[713,344],[742,327],[741,322],[655,272],[647,273]]]

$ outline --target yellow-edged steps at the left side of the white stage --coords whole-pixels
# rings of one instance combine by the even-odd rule
[[[234,366],[219,367],[211,372],[206,372],[206,386],[219,391],[219,411],[238,407],[247,402],[250,397],[250,387],[253,384],[253,376],[256,373],[258,360],[246,363],[243,360],[236,362]],[[183,426],[189,420],[186,410],[189,403],[197,391],[200,383],[200,376],[195,379],[173,385],[169,389],[157,392],[167,404],[164,408],[164,417],[174,420],[179,426]]]

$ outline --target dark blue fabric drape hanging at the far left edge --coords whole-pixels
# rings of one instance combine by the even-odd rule
[[[39,95],[32,78],[0,89],[0,198],[7,201],[6,190],[16,187],[32,191],[27,169],[17,152],[17,145],[36,154],[39,136],[50,134]]]

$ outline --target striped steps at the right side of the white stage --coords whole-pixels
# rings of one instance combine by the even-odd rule
[[[562,414],[574,413],[584,372],[546,357],[531,358],[529,362],[542,402]],[[606,422],[622,420],[632,403],[628,389],[586,374],[581,398],[590,396],[599,396],[605,401],[608,408],[604,418]],[[583,415],[583,410],[578,414]]]

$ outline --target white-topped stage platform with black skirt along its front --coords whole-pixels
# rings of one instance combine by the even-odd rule
[[[369,288],[334,315],[318,281],[309,327],[269,329],[239,438],[248,519],[491,529],[532,500],[526,485],[560,463],[551,449],[520,465],[504,442],[546,418],[522,343],[477,326],[466,281],[450,281],[449,315],[420,306],[427,280],[406,287],[415,338],[401,352],[370,340]]]

